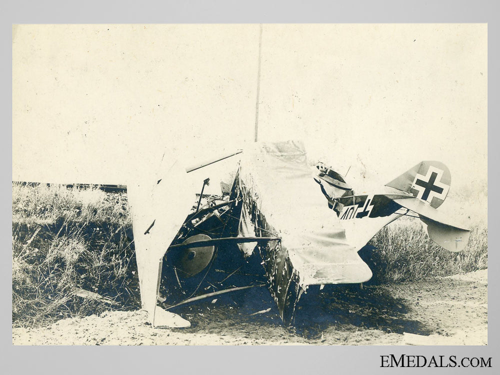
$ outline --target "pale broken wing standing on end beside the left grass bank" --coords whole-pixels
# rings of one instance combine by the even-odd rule
[[[154,326],[189,326],[189,321],[156,307],[163,255],[195,199],[195,188],[173,158],[127,183],[128,204],[142,308]]]

